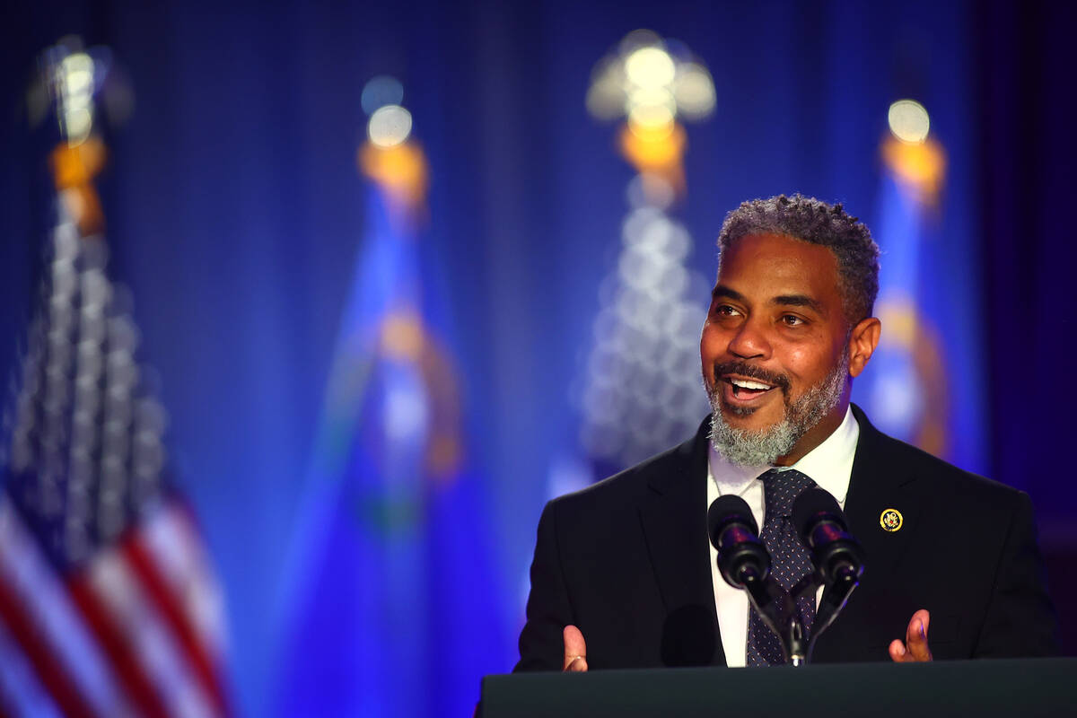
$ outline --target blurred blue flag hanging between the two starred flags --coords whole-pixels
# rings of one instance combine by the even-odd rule
[[[365,238],[290,566],[275,709],[470,715],[481,676],[507,668],[505,631],[459,381],[424,305],[423,158],[412,143],[367,145],[361,164]]]

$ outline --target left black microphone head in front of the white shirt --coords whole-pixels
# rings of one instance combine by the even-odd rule
[[[707,534],[718,550],[718,571],[737,589],[761,586],[770,575],[770,554],[747,502],[719,496],[707,510]],[[751,591],[750,591],[751,592]]]

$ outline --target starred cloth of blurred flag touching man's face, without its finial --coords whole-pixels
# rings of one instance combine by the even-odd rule
[[[583,447],[624,465],[690,436],[707,413],[698,341],[710,288],[685,266],[691,250],[685,226],[646,202],[640,188],[629,192],[640,206],[625,217],[617,266],[599,288],[579,396]]]

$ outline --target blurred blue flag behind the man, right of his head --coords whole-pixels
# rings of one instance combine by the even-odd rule
[[[975,247],[939,231],[945,154],[933,139],[883,143],[876,314],[882,337],[854,399],[879,428],[982,470]],[[961,257],[954,264],[952,257]]]

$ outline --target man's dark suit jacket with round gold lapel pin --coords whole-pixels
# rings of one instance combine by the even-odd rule
[[[936,659],[1057,653],[1029,496],[853,413],[845,516],[866,569],[813,660],[887,661],[887,644],[905,637],[919,608],[931,611]],[[705,525],[709,430],[707,421],[694,439],[546,505],[517,671],[559,671],[569,623],[592,670],[725,665]],[[896,532],[880,524],[891,508],[904,517]]]

